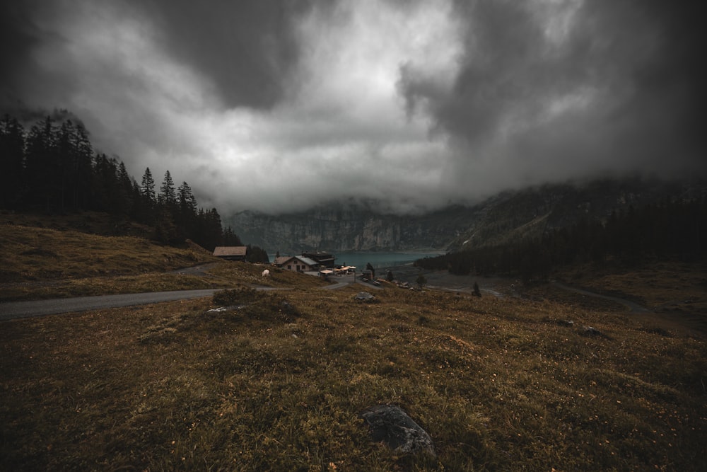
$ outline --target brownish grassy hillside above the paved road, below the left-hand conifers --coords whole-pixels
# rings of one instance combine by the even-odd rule
[[[27,215],[4,216],[0,301],[233,287],[238,282],[293,283],[291,275],[277,271],[263,281],[259,277],[262,268],[223,263],[194,244],[173,248],[137,236],[101,236],[70,229],[76,227],[74,219],[83,221],[80,217],[57,217],[42,224]],[[101,217],[90,219],[96,224],[94,229],[105,226]],[[203,273],[179,270],[204,264],[209,270]]]

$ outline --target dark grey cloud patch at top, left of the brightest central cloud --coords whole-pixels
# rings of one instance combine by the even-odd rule
[[[163,45],[214,81],[226,107],[269,108],[298,59],[293,25],[308,1],[134,0],[156,22]]]

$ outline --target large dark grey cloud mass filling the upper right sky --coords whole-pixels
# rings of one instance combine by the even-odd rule
[[[457,2],[455,85],[445,93],[436,77],[402,67],[408,110],[424,108],[462,146],[461,166],[506,159],[507,171],[528,168],[534,180],[702,166],[704,8],[592,0],[572,12],[572,3]],[[566,25],[547,21],[563,15]]]

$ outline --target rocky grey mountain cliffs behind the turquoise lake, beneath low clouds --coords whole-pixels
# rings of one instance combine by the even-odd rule
[[[605,219],[666,198],[703,198],[705,183],[640,179],[595,180],[504,192],[471,207],[452,206],[417,216],[375,212],[375,207],[332,204],[272,216],[240,212],[230,224],[240,238],[266,251],[459,251],[542,236],[583,217]]]

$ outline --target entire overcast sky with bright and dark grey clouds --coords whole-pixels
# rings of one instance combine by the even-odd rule
[[[169,170],[221,214],[694,175],[701,4],[2,2],[0,106],[67,108],[138,181]]]

